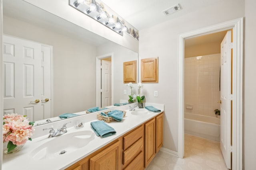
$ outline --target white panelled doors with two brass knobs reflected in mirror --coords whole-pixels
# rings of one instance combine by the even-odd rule
[[[52,47],[4,35],[3,48],[4,114],[27,115],[30,121],[50,118]]]

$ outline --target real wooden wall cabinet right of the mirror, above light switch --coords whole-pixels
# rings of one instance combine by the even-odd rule
[[[141,82],[158,83],[158,57],[141,59]]]

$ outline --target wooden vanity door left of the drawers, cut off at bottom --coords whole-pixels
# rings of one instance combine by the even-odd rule
[[[120,157],[121,142],[118,141],[90,158],[90,170],[118,170]]]

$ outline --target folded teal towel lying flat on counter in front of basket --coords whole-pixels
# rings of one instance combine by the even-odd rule
[[[115,129],[113,129],[111,126],[107,125],[103,120],[91,122],[91,127],[97,136],[108,137],[108,136],[116,134]]]

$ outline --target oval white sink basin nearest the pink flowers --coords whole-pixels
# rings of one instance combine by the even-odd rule
[[[92,131],[67,132],[48,139],[49,141],[32,150],[30,155],[34,160],[58,158],[85,147],[94,137],[95,133]]]

